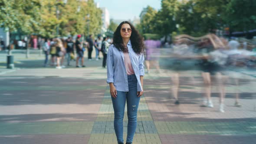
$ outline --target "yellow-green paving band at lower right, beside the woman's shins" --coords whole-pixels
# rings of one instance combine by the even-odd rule
[[[208,134],[208,135],[251,135],[256,134],[252,125],[256,122],[197,122],[197,121],[154,121],[158,134]]]

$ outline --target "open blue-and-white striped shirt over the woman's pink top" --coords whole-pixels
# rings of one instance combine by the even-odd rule
[[[138,80],[137,89],[143,91],[140,76],[144,76],[144,54],[138,55],[131,47],[131,41],[128,44],[131,65]],[[107,55],[107,83],[113,83],[117,91],[128,92],[128,78],[125,68],[124,53],[119,51],[113,44],[109,46]]]

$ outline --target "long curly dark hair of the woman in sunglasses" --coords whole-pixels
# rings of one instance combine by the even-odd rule
[[[143,39],[141,37],[141,35],[138,33],[138,31],[135,29],[135,27],[128,21],[123,21],[119,24],[119,26],[115,29],[115,33],[114,33],[114,37],[113,37],[113,45],[122,52],[126,52],[127,49],[125,48],[125,46],[123,45],[123,39],[121,37],[121,26],[123,24],[129,24],[131,26],[131,46],[132,49],[135,53],[137,53],[138,55],[140,55],[143,51],[144,51],[144,42]]]

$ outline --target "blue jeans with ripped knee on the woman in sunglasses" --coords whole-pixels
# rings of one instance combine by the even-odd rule
[[[125,101],[127,101],[128,131],[126,142],[132,143],[133,136],[137,127],[137,111],[140,97],[137,95],[137,79],[135,75],[128,75],[129,92],[117,91],[117,97],[112,97],[114,108],[114,128],[118,143],[124,142],[123,139],[123,118],[125,114]]]

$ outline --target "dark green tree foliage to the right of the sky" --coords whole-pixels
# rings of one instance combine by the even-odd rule
[[[200,36],[225,27],[248,31],[256,29],[255,8],[255,0],[161,0],[161,9],[154,14],[148,9],[138,29],[162,36]]]

